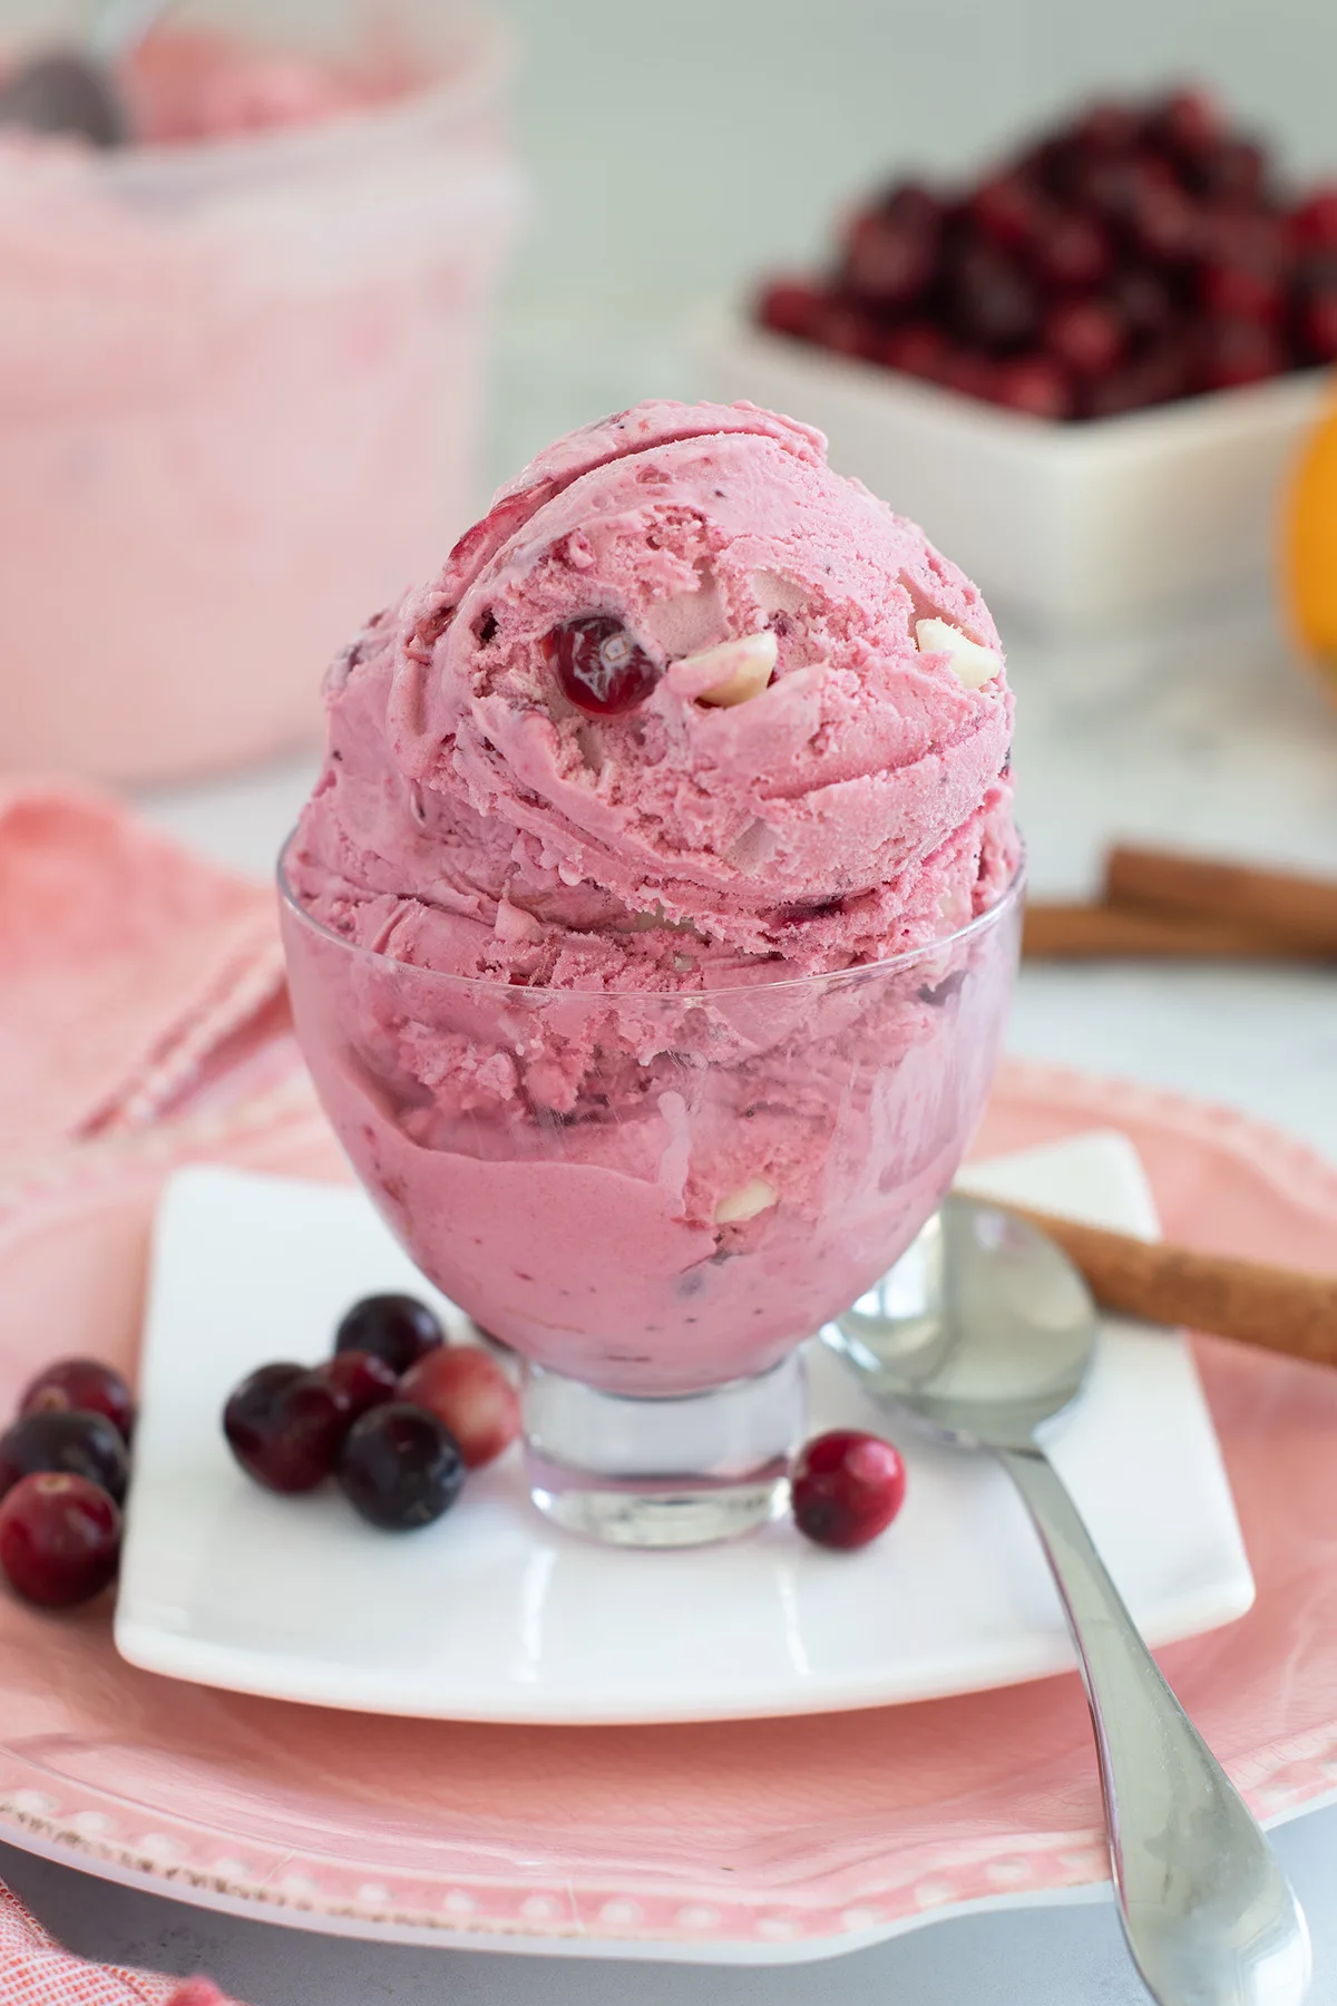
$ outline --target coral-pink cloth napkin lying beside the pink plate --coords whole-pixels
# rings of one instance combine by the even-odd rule
[[[269,887],[94,794],[0,792],[0,1210],[80,1145],[291,1063]],[[227,2002],[202,1978],[72,1958],[0,1884],[0,2006]]]

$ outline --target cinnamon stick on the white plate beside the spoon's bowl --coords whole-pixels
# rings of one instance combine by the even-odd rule
[[[1104,1310],[1337,1364],[1337,1276],[1135,1240],[1024,1206],[1008,1210],[1058,1242]]]

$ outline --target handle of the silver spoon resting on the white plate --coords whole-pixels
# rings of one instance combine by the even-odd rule
[[[1243,1797],[1165,1683],[1062,1478],[1000,1450],[1082,1667],[1129,1950],[1159,2006],[1301,2006],[1309,1932]]]

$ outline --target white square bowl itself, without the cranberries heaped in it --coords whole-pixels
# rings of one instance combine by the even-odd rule
[[[1040,632],[1261,594],[1287,469],[1329,395],[1315,369],[1058,425],[744,323],[708,331],[698,359],[706,395],[820,425],[834,467]]]

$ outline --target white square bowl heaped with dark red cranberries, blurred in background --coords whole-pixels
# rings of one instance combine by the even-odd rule
[[[1331,363],[1337,177],[1287,189],[1201,90],[894,183],[704,353],[1040,628],[1257,596]]]

